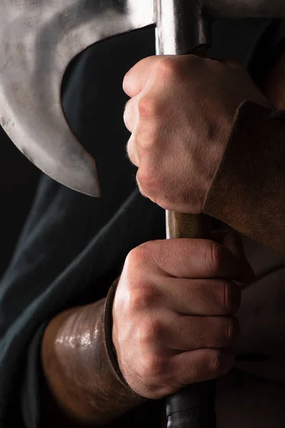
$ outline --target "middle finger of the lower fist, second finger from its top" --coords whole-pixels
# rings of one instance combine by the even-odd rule
[[[229,280],[183,280],[165,278],[163,305],[181,315],[233,315],[241,303],[240,287]]]

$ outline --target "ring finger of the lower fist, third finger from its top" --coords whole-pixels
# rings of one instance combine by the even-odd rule
[[[240,332],[237,318],[229,316],[187,317],[178,315],[168,317],[163,326],[159,339],[156,341],[157,345],[177,351],[233,347]]]

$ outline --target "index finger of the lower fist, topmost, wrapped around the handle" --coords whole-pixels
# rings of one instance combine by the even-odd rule
[[[166,276],[229,280],[238,280],[239,277],[237,258],[227,248],[212,240],[157,240],[140,245],[135,251],[144,249],[150,263],[155,263]]]

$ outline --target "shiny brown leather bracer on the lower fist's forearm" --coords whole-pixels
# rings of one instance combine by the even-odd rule
[[[116,284],[107,299],[63,312],[46,328],[41,352],[46,379],[41,427],[117,427],[113,422],[123,422],[120,418],[132,409],[142,414],[140,405],[143,408],[147,399],[125,383],[113,354],[115,288]]]

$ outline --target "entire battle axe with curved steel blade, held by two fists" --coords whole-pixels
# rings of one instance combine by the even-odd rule
[[[146,26],[157,54],[187,54],[210,44],[218,18],[285,16],[284,0],[2,0],[0,123],[19,150],[59,183],[99,196],[95,161],[76,140],[61,106],[68,63],[91,44]],[[167,214],[168,238],[202,238],[202,216]],[[167,402],[167,427],[215,426],[211,382]]]

